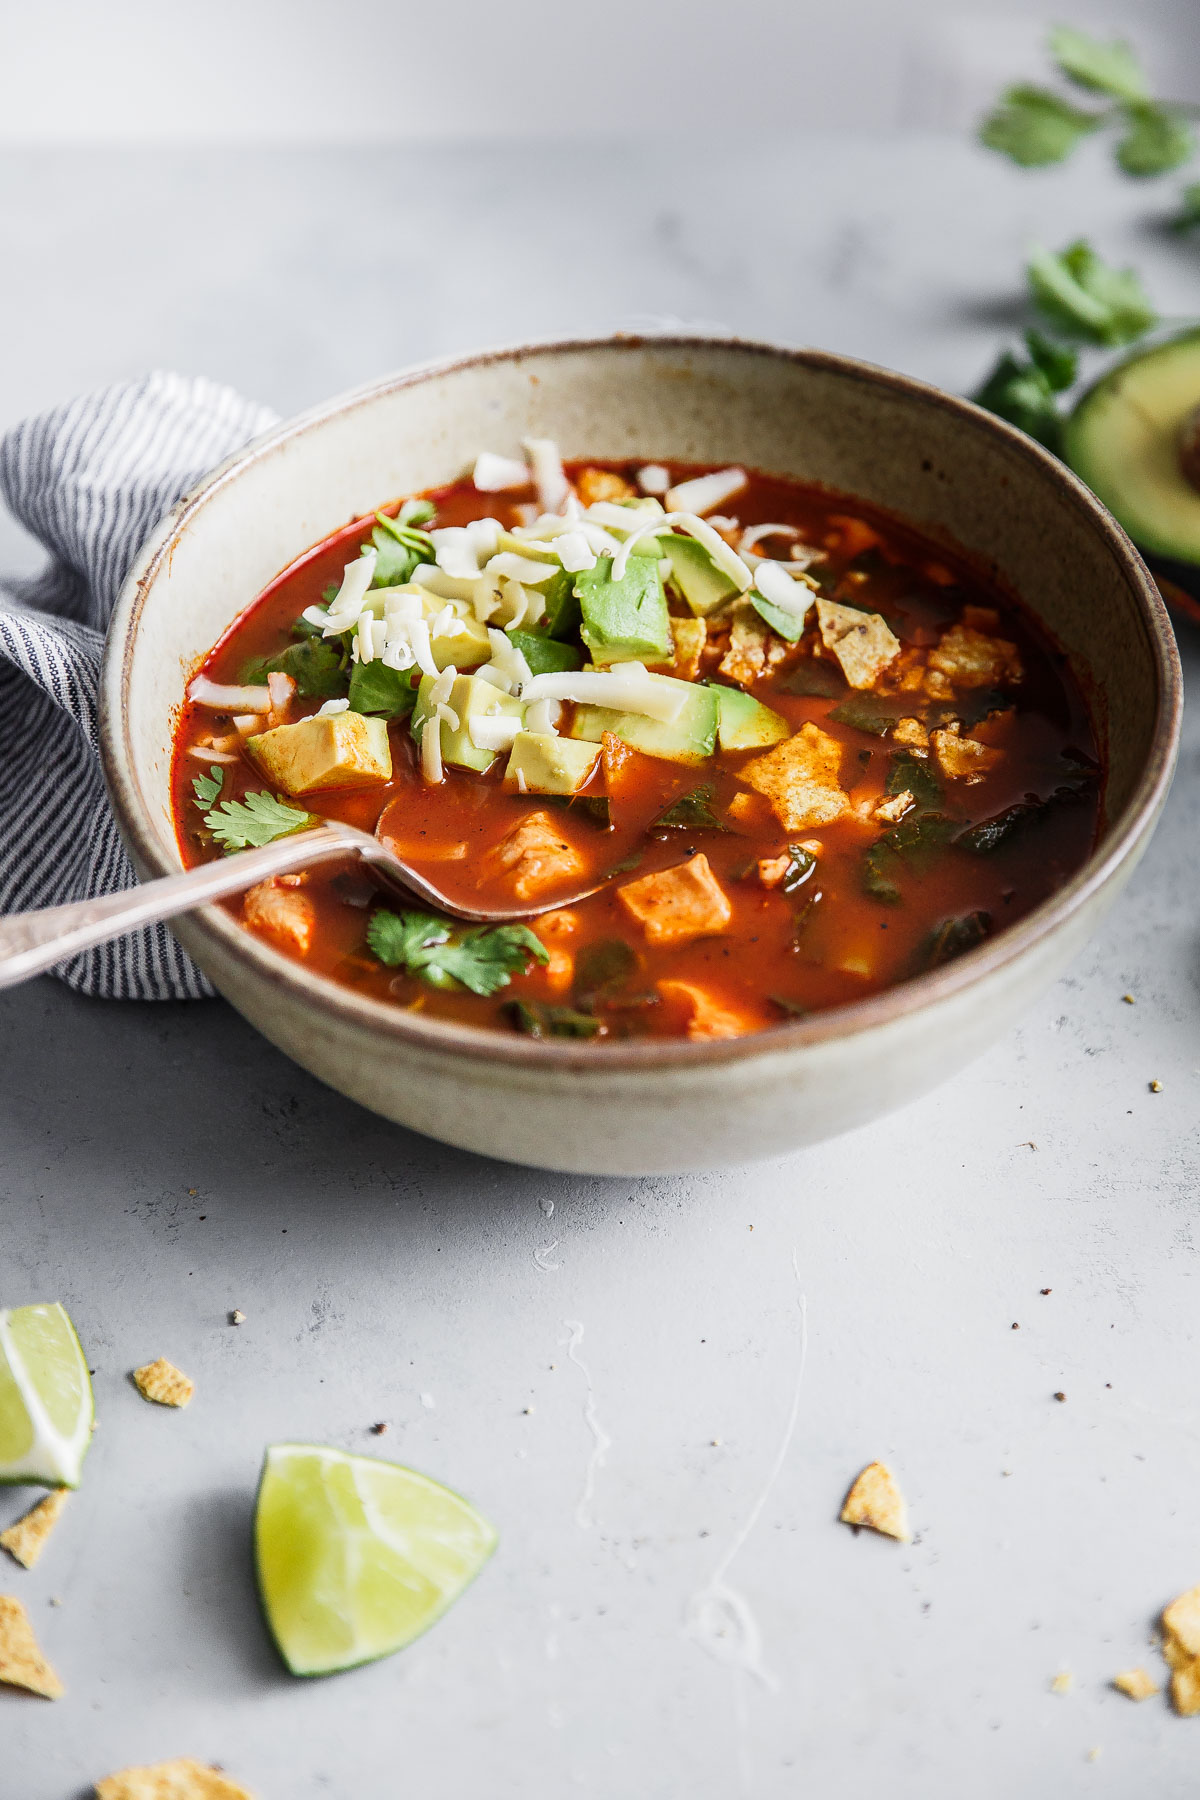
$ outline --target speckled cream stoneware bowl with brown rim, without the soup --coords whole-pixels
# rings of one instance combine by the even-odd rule
[[[1103,837],[1011,931],[891,992],[732,1042],[536,1042],[336,986],[219,907],[176,923],[216,986],[324,1082],[446,1143],[594,1174],[777,1156],[959,1069],[1112,905],[1166,797],[1180,675],[1130,540],[1054,457],[986,412],[819,351],[694,338],[542,344],[412,369],[281,425],[155,533],[117,607],[103,751],[146,875],[178,869],[171,727],[198,659],[309,544],[531,434],[567,455],[747,463],[858,495],[957,545],[1069,653],[1108,760]]]

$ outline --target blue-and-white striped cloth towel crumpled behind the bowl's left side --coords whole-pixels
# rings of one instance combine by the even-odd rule
[[[0,441],[0,491],[50,556],[32,580],[0,580],[0,913],[135,886],[99,763],[104,630],[164,513],[273,423],[228,387],[149,374],[25,419]],[[166,925],[56,974],[110,999],[212,994]]]

